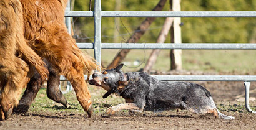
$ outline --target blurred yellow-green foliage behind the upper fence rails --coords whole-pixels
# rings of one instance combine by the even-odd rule
[[[74,11],[89,11],[89,0],[72,0]],[[115,11],[116,1],[102,1],[102,11]],[[159,0],[120,0],[121,11],[152,11]],[[182,11],[255,11],[255,0],[182,0]],[[169,1],[163,11],[169,11]],[[92,11],[94,0],[92,0]],[[113,42],[113,39],[122,42],[129,39],[130,34],[144,21],[144,17],[102,18],[102,42]],[[149,30],[140,39],[140,42],[155,42],[165,18],[157,18]],[[254,17],[240,18],[182,18],[182,42],[255,42],[256,19]],[[94,19],[92,17],[74,18],[75,34],[82,42],[94,41]],[[120,29],[118,29],[120,27]],[[118,29],[118,35],[114,31]],[[165,42],[170,42],[170,35]]]

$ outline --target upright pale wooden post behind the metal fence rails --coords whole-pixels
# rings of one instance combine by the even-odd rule
[[[180,1],[181,0],[170,0],[170,9],[172,11],[180,11]],[[181,41],[181,29],[180,29],[180,17],[174,18],[174,23],[170,29],[171,42],[172,43],[182,43]],[[182,69],[182,50],[172,49],[170,50],[170,69],[171,70],[181,70]]]

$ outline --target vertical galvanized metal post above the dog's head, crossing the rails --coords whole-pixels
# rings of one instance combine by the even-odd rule
[[[94,4],[94,58],[101,65],[101,0]]]

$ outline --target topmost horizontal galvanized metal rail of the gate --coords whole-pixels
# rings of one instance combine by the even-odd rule
[[[66,11],[66,17],[94,17],[93,11]],[[256,11],[101,11],[102,17],[256,17]]]

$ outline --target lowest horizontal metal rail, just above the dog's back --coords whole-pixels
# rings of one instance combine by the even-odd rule
[[[165,81],[256,81],[256,75],[151,75]],[[84,75],[87,78],[87,75]],[[90,77],[92,78],[92,77]],[[61,75],[61,80],[66,80]]]

